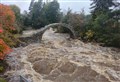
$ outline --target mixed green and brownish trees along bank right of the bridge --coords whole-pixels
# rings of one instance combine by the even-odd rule
[[[62,22],[74,27],[76,36],[83,41],[94,41],[104,46],[120,48],[120,3],[118,0],[91,0],[91,14],[68,10]],[[65,32],[63,28],[59,30]]]

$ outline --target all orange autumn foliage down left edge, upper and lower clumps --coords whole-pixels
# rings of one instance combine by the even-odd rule
[[[0,59],[4,59],[6,54],[11,52],[11,48],[3,41],[11,30],[15,30],[15,15],[7,5],[0,4]]]

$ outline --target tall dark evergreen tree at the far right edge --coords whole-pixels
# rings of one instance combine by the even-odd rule
[[[120,47],[120,9],[117,0],[92,0],[92,21],[90,30],[94,40],[107,46]]]

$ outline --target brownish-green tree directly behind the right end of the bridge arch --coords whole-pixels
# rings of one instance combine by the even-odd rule
[[[63,16],[62,22],[69,24],[73,27],[77,37],[81,37],[84,27],[84,17],[83,13],[73,13],[71,9],[68,10],[67,14]],[[64,27],[61,28],[63,32],[67,32],[67,29]]]

